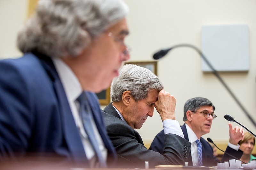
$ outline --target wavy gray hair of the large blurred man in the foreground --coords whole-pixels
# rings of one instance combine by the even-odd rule
[[[17,45],[23,53],[76,56],[127,13],[122,0],[40,0]]]

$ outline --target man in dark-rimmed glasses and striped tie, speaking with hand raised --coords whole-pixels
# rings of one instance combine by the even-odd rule
[[[202,138],[210,132],[212,120],[217,116],[214,114],[215,107],[208,99],[196,97],[189,99],[184,105],[184,125],[181,126],[185,139],[191,143],[190,154],[188,156],[189,166],[216,166],[220,160],[213,155],[211,145]],[[243,154],[239,150],[238,142],[244,138],[243,128],[235,127],[229,123],[229,143],[226,153],[240,158]],[[150,150],[163,154],[164,131],[158,133],[153,140]],[[233,159],[224,154],[221,162]]]

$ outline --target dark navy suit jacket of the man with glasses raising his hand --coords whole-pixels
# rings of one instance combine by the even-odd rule
[[[181,129],[185,139],[188,140],[188,132],[185,124],[181,126]],[[164,141],[164,130],[162,130],[156,135],[149,149],[163,154],[163,141]],[[213,156],[212,146],[202,137],[200,138],[200,141],[202,143],[202,150],[203,150],[203,155],[202,155],[203,166],[217,166],[217,163],[220,162],[220,160],[216,156]],[[239,159],[243,155],[243,152],[241,150],[236,151],[230,148],[229,146],[227,147],[226,152]],[[227,154],[224,154],[221,159],[221,162],[228,161],[229,159],[234,159],[234,158],[228,156]],[[189,156],[188,156],[188,165],[192,166],[191,153],[189,153]]]

